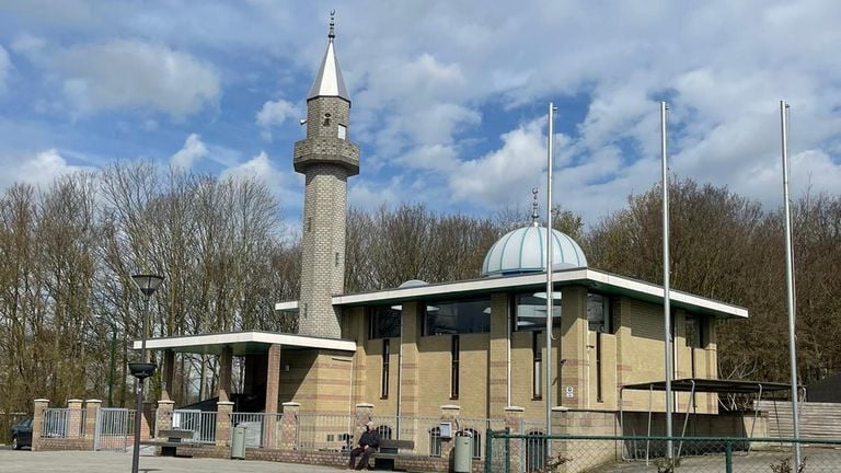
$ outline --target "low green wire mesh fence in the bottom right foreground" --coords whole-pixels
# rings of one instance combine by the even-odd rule
[[[838,472],[841,470],[841,440],[701,438],[701,437],[589,437],[529,436],[487,430],[486,472]],[[667,455],[668,441],[672,454]],[[521,452],[541,443],[541,461]],[[802,469],[793,463],[799,445]],[[549,452],[549,454],[545,454]],[[538,453],[538,451],[533,451]]]

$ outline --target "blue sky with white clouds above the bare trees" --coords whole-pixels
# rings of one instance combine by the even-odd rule
[[[782,203],[841,189],[841,2],[2,0],[0,191],[147,159],[252,175],[300,227],[299,119],[336,10],[360,146],[349,205],[530,212],[595,224],[670,171]],[[541,199],[541,203],[543,199]],[[543,207],[543,206],[542,206]]]

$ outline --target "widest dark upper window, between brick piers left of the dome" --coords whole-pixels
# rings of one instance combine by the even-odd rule
[[[491,332],[491,299],[430,302],[426,305],[424,335]]]

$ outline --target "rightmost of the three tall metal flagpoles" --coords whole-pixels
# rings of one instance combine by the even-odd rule
[[[792,251],[792,210],[788,199],[788,104],[780,101],[780,128],[782,130],[783,154],[783,207],[785,209],[785,289],[788,300],[788,364],[792,372],[792,417],[794,422],[794,469],[800,465],[800,445],[796,442],[800,438],[800,422],[797,413],[797,346],[794,334],[795,303],[794,303],[794,254]]]

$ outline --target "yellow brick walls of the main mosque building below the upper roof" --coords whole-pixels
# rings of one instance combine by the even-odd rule
[[[554,327],[550,355],[553,405],[618,411],[621,387],[665,378],[661,305],[629,297],[611,297],[613,330],[597,333],[588,326],[587,288],[567,286],[562,292],[562,324]],[[545,360],[545,333],[540,332],[535,341],[533,332],[509,332],[515,318],[512,297],[510,292],[491,296],[488,333],[459,335],[460,390],[456,399],[450,395],[452,335],[423,335],[422,302],[402,302],[403,343],[401,346],[401,337],[389,338],[387,396],[381,392],[383,338],[369,339],[368,308],[346,309],[345,336],[356,339],[358,347],[354,360],[353,402],[371,403],[379,415],[423,417],[438,416],[441,405],[456,404],[461,407],[461,416],[498,418],[507,405],[517,405],[525,407],[526,419],[544,419],[545,392],[535,399],[532,389],[532,346],[537,342]],[[686,343],[686,312],[673,310],[672,314],[675,378],[715,378],[714,320],[700,319],[704,347],[691,348]],[[545,377],[544,370],[545,365],[541,367],[541,378]],[[349,381],[346,383],[349,385]],[[629,390],[623,393],[623,401],[626,411],[647,411],[649,403],[655,411],[665,409],[663,393],[650,396],[647,391]],[[691,399],[689,394],[676,394],[676,409],[686,411]],[[302,405],[308,407],[304,402]],[[715,395],[695,394],[698,413],[715,413],[716,406]]]

